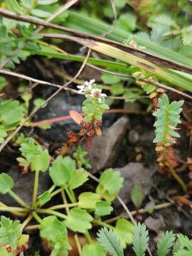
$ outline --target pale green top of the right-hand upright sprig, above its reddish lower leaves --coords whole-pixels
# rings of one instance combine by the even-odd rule
[[[169,98],[164,94],[158,101],[159,108],[154,112],[154,117],[157,118],[154,123],[156,127],[154,143],[161,142],[163,144],[175,142],[174,137],[180,137],[175,131],[177,124],[181,123],[180,114],[183,100],[178,102],[169,102]]]

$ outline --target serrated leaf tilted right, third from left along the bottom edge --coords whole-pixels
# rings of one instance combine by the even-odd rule
[[[163,237],[159,239],[157,245],[157,255],[166,256],[168,255],[171,247],[174,245],[175,235],[170,231],[166,231]]]

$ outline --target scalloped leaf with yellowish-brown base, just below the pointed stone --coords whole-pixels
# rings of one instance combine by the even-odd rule
[[[96,192],[105,198],[107,201],[112,201],[122,188],[123,178],[119,171],[107,169],[100,176],[100,183],[97,186]]]

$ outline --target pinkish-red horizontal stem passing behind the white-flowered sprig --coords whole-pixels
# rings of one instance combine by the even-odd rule
[[[112,109],[112,110],[106,110],[104,114],[112,114],[112,113],[124,113],[124,114],[143,114],[142,112],[130,112],[129,110],[124,109]],[[82,113],[80,113],[82,114]],[[83,114],[82,114],[83,115]],[[46,119],[43,121],[33,122],[31,123],[31,127],[40,126],[43,124],[53,124],[57,122],[62,122],[65,120],[71,119],[70,115],[68,116],[62,116],[62,117],[55,117],[53,119]]]

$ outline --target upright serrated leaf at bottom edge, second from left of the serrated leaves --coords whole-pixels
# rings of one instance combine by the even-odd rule
[[[149,233],[144,224],[138,223],[133,233],[133,250],[135,255],[144,256],[149,242]]]

